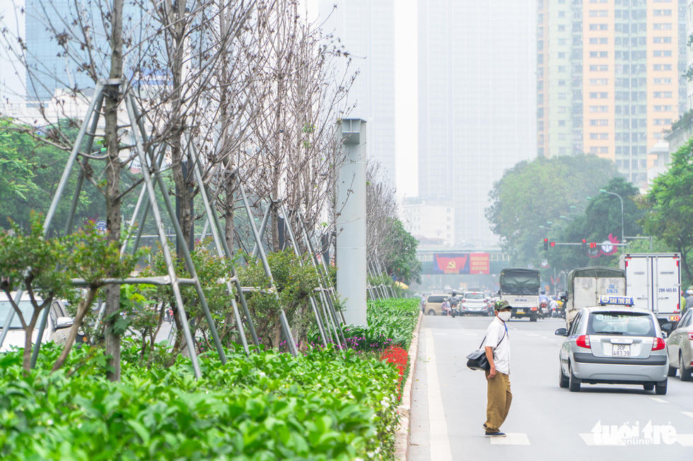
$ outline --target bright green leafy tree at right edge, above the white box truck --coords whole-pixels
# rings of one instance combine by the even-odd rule
[[[681,253],[686,280],[693,282],[688,259],[693,249],[693,139],[671,156],[669,169],[653,181],[641,205],[647,208],[643,229]]]

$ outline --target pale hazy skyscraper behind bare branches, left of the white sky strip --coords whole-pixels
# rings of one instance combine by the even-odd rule
[[[334,8],[334,6],[337,8]],[[349,90],[350,118],[368,122],[368,158],[395,185],[395,0],[321,0],[323,29],[339,39],[358,71]]]

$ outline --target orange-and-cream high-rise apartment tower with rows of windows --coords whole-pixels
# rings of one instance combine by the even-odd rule
[[[537,0],[540,155],[586,152],[646,186],[686,110],[687,0]]]

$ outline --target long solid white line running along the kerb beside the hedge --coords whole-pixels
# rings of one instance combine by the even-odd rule
[[[433,333],[426,329],[426,354],[430,357],[426,364],[426,379],[429,382],[429,441],[431,441],[431,460],[452,461],[448,423],[445,422],[445,409],[441,397],[441,384],[438,381],[436,352],[433,349]]]

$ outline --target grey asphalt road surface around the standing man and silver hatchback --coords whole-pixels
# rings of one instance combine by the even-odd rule
[[[690,460],[693,382],[669,378],[667,395],[634,385],[558,385],[563,319],[508,322],[513,404],[501,431],[485,438],[486,379],[467,369],[490,317],[425,316],[412,396],[410,460]],[[629,438],[617,445],[611,433]],[[595,435],[596,434],[596,435]]]

